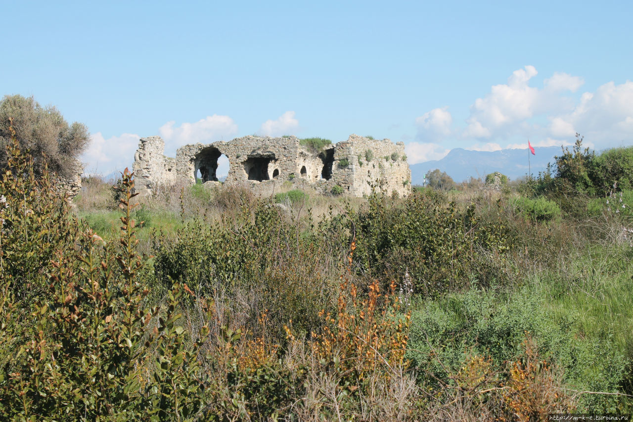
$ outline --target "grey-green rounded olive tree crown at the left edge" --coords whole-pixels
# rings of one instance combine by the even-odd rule
[[[4,96],[0,101],[0,168],[6,167],[8,159],[9,118],[13,118],[20,149],[33,156],[37,174],[47,164],[59,176],[73,176],[76,160],[90,141],[84,124],[69,125],[56,107],[42,107],[33,97]]]

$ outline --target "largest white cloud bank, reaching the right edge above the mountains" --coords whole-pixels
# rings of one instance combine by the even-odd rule
[[[608,82],[578,100],[568,94],[580,89],[582,77],[556,72],[537,88],[529,85],[537,73],[533,66],[516,70],[506,84],[476,99],[462,137],[489,143],[530,137],[538,146],[551,146],[573,143],[579,132],[587,146],[633,142],[633,82]]]

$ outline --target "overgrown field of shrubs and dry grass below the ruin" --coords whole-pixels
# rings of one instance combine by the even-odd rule
[[[256,198],[196,185],[136,204],[126,172],[85,180],[69,210],[13,144],[0,418],[630,413],[633,154],[577,147],[501,191]]]

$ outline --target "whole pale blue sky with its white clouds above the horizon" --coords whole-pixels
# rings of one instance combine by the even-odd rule
[[[92,134],[88,172],[248,134],[633,144],[633,3],[1,1],[0,93]]]

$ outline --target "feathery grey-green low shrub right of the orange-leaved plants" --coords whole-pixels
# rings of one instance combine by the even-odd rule
[[[605,339],[579,335],[576,312],[552,312],[546,293],[532,286],[509,294],[470,290],[414,305],[406,357],[420,381],[439,387],[437,380],[458,373],[469,355],[490,356],[492,369],[505,371],[506,362],[522,357],[520,346],[529,335],[539,354],[561,369],[570,388],[616,391],[625,371],[623,355]],[[610,397],[589,395],[581,404],[604,411]]]

